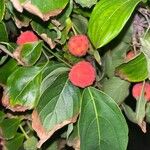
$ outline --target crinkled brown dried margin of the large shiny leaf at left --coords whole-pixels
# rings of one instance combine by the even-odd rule
[[[10,106],[9,96],[7,95],[7,93],[5,91],[4,91],[3,97],[2,97],[2,105],[4,107],[6,107],[6,109],[10,109],[13,112],[24,112],[24,111],[28,110],[28,108],[25,106],[20,106],[20,105],[16,105],[14,107]]]

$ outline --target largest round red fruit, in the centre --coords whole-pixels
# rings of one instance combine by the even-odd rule
[[[81,88],[92,85],[95,78],[95,68],[87,61],[78,62],[69,73],[69,79],[72,84]]]

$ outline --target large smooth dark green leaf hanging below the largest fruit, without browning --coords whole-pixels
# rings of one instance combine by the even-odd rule
[[[121,110],[105,93],[89,87],[82,96],[81,150],[126,150],[128,128]]]

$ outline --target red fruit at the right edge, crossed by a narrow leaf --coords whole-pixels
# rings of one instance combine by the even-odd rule
[[[137,83],[132,88],[132,95],[135,99],[138,99],[141,95],[143,83]],[[145,83],[144,85],[144,97],[147,101],[150,101],[150,84]]]

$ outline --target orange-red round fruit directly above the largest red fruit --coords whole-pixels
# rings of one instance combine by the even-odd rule
[[[68,49],[74,56],[86,55],[89,48],[89,40],[86,35],[75,35],[69,39]]]

